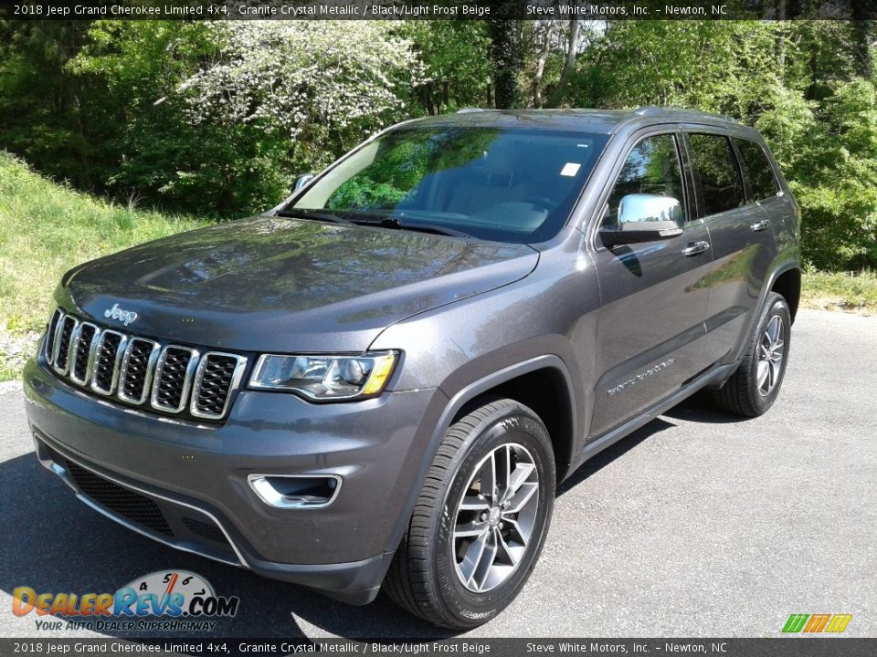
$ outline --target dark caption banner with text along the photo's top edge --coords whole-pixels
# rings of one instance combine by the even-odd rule
[[[25,20],[865,20],[877,0],[3,0]]]

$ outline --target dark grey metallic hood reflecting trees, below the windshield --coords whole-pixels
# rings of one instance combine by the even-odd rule
[[[86,263],[58,302],[204,347],[359,351],[401,319],[527,276],[538,258],[527,245],[259,216]],[[116,305],[136,319],[108,318]]]

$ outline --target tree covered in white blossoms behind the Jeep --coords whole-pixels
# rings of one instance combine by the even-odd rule
[[[423,79],[411,42],[392,23],[238,21],[210,29],[217,57],[177,89],[190,118],[258,125],[297,141],[305,160],[405,116]]]

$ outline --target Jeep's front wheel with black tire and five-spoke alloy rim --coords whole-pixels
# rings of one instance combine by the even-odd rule
[[[542,551],[555,461],[539,417],[491,401],[450,427],[384,589],[403,609],[466,629],[514,600]]]

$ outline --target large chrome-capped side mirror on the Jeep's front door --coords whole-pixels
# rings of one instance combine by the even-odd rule
[[[618,225],[603,226],[600,239],[608,248],[654,242],[682,235],[682,203],[671,196],[628,194],[618,204]]]

